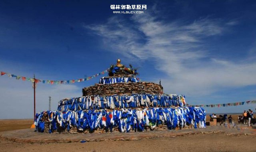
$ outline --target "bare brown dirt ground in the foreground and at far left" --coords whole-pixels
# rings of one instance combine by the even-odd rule
[[[233,117],[234,118],[234,117]],[[0,120],[0,130],[29,128],[33,120]],[[16,125],[13,125],[16,124]],[[51,136],[49,134],[49,136]],[[69,143],[19,143],[0,140],[1,152],[29,151],[237,151],[256,152],[256,135],[227,135],[225,133],[190,134],[176,137],[152,138],[131,141],[69,142]]]

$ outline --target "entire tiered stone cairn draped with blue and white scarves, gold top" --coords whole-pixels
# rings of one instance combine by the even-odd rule
[[[82,89],[82,97],[61,100],[58,111],[36,114],[38,132],[92,133],[204,128],[202,108],[185,107],[185,96],[163,94],[163,87],[139,82],[137,70],[117,60],[108,76]]]

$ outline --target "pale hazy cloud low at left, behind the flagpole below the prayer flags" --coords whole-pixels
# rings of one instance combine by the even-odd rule
[[[18,73],[18,72],[17,72]],[[28,74],[24,74],[26,76]],[[0,79],[0,119],[33,118],[34,92],[32,83],[15,80],[6,75]],[[51,109],[56,110],[58,101],[82,96],[81,88],[75,85],[51,85],[39,83],[36,88],[36,112],[48,110],[48,96],[52,96]]]

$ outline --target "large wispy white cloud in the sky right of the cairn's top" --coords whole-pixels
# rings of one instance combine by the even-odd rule
[[[86,28],[116,48],[112,51],[130,60],[135,56],[156,63],[155,68],[167,74],[168,78],[162,78],[166,93],[206,95],[220,88],[256,84],[256,62],[210,58],[203,49],[205,38],[221,36],[235,24],[237,21],[210,18],[166,22],[144,13],[133,15],[129,21],[112,17],[106,24]]]

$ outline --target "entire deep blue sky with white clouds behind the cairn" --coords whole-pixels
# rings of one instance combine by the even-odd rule
[[[143,14],[114,14],[111,4],[146,4]],[[162,80],[167,94],[189,104],[256,99],[256,2],[250,1],[1,1],[0,71],[71,80],[106,70],[120,58],[143,81]],[[128,10],[125,10],[128,11]],[[90,81],[38,84],[36,112],[82,96]],[[30,82],[0,77],[0,119],[32,118]],[[206,108],[242,112],[253,104]]]

